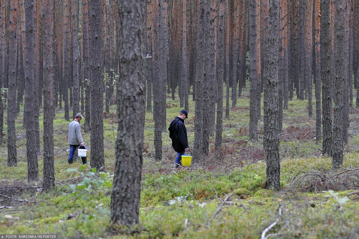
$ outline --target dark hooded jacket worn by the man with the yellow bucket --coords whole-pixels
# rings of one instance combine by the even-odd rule
[[[187,130],[185,121],[180,117],[174,118],[168,127],[169,138],[172,139],[172,147],[176,152],[183,152],[188,148]]]

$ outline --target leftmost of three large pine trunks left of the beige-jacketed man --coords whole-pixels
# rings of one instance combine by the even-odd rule
[[[16,88],[17,88],[17,1],[10,3],[9,21],[9,85],[8,85],[8,167],[17,166],[15,120],[16,114]]]

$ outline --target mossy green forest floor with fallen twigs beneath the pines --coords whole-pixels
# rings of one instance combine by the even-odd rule
[[[6,124],[0,147],[0,234],[43,233],[60,238],[359,238],[359,109],[350,109],[344,165],[333,172],[332,159],[322,156],[321,142],[315,143],[315,100],[311,118],[307,100],[289,101],[280,134],[282,190],[273,192],[264,189],[262,138],[248,141],[248,87],[249,83],[230,110],[229,119],[224,118],[222,158],[213,157],[211,137],[209,157],[190,168],[173,167],[175,153],[168,132],[162,135],[163,160],[155,161],[153,114],[146,112],[140,223],[130,229],[113,226],[109,220],[117,134],[115,106],[104,114],[106,166],[101,177],[89,173],[89,164],[82,166],[81,160],[67,163],[69,122],[64,120],[64,112],[57,110],[53,128],[56,187],[43,193],[42,155],[38,156],[40,181],[27,182],[22,105],[16,120],[17,167],[6,167]],[[195,111],[191,99],[190,95],[185,121],[190,148]],[[167,125],[180,109],[178,99],[167,95]],[[42,120],[41,112],[41,147]],[[258,122],[260,135],[262,126],[263,122]],[[90,134],[83,133],[83,138],[91,147]]]

